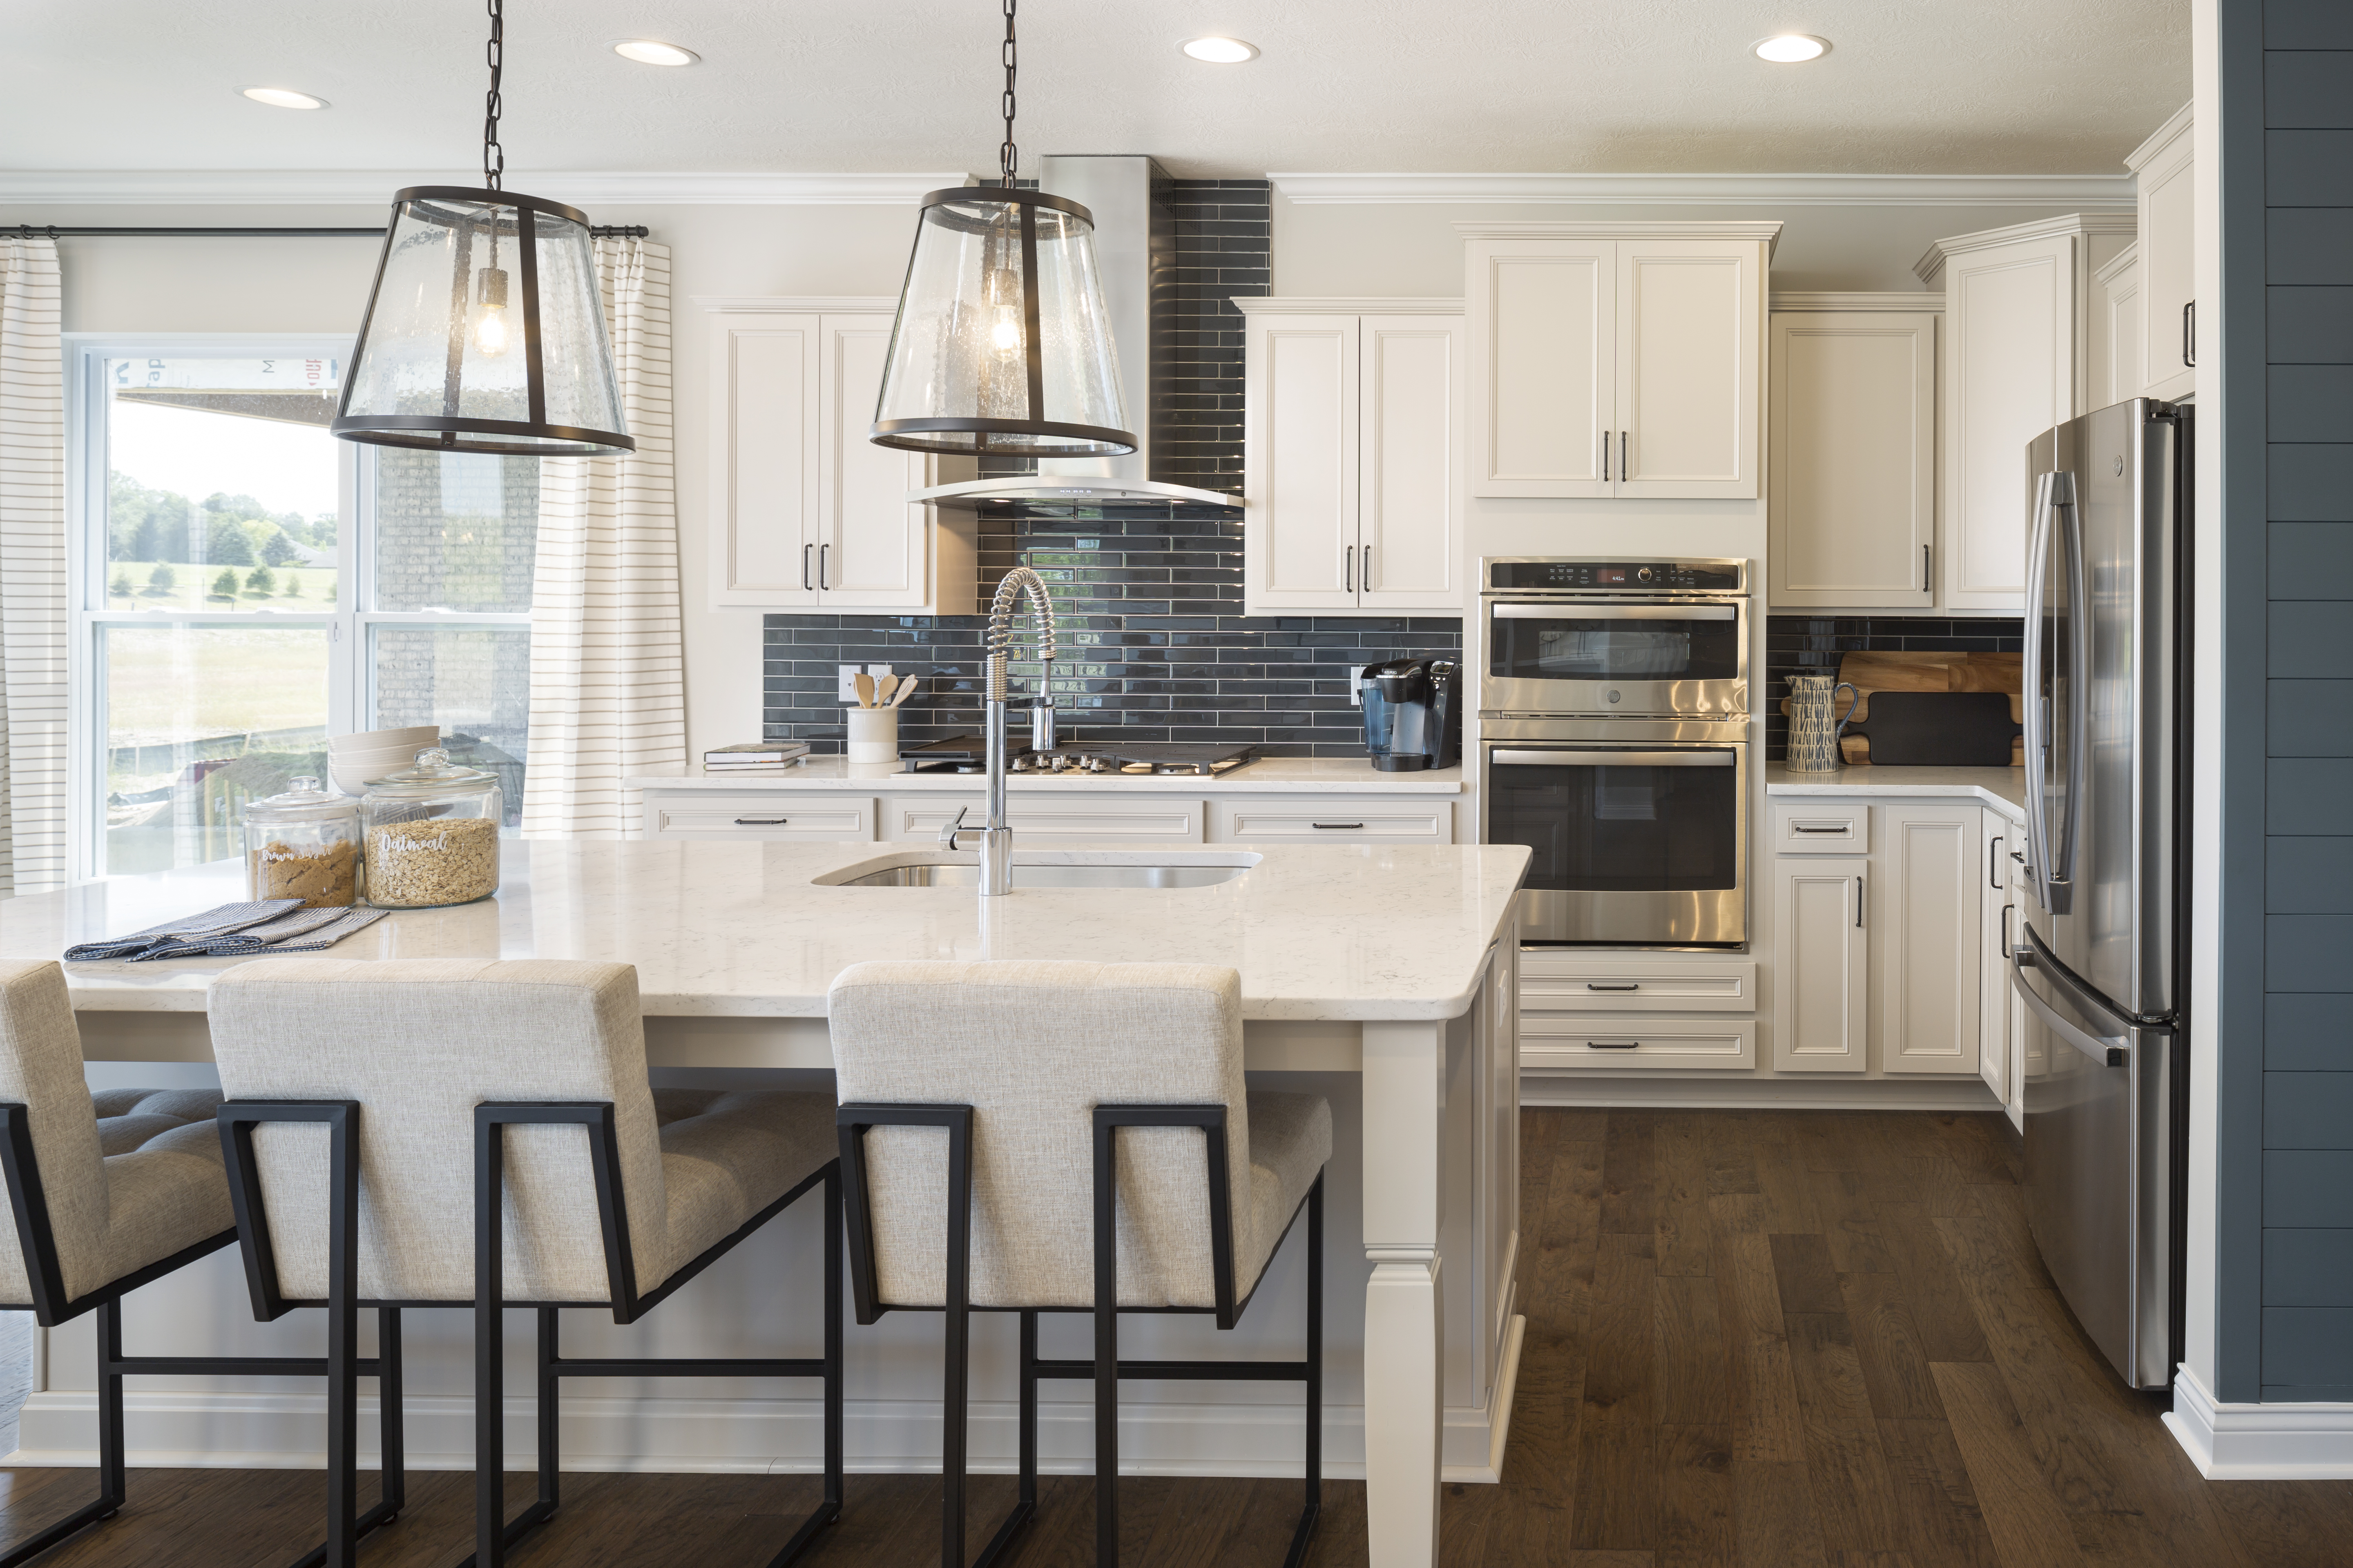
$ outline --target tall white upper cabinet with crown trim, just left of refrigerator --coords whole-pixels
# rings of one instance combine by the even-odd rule
[[[1991,228],[1937,240],[1913,268],[1944,289],[1939,607],[2026,604],[2026,444],[2094,407],[2092,273],[2132,228],[2127,214]]]

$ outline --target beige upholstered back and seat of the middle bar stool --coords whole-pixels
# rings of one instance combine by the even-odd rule
[[[647,1088],[638,971],[555,959],[256,959],[212,985],[233,1100],[358,1100],[360,1298],[473,1300],[475,1105],[609,1100],[640,1291],[831,1159],[821,1095]],[[776,1103],[805,1114],[779,1124]],[[788,1107],[791,1110],[791,1107]],[[278,1288],[327,1295],[327,1128],[254,1128]],[[605,1302],[584,1126],[506,1128],[504,1298]]]

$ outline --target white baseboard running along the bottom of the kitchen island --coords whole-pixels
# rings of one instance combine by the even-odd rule
[[[1518,1380],[1520,1326],[1497,1378],[1489,1410],[1445,1410],[1445,1481],[1494,1481]],[[19,1418],[19,1448],[5,1465],[96,1465],[96,1394],[33,1394]],[[972,1472],[1014,1469],[1012,1401],[974,1401]],[[402,1401],[409,1469],[473,1467],[473,1399],[409,1394]],[[125,1396],[129,1462],[191,1469],[318,1469],[327,1448],[322,1394],[136,1392]],[[847,1467],[873,1474],[939,1469],[939,1406],[932,1401],[849,1401]],[[1494,1429],[1489,1429],[1494,1427]],[[508,1399],[508,1469],[529,1469],[534,1406]],[[612,1399],[567,1394],[562,1467],[652,1474],[809,1474],[819,1467],[814,1399]],[[1334,1481],[1365,1476],[1362,1406],[1325,1406],[1322,1469]],[[1040,1403],[1038,1467],[1094,1472],[1094,1406]],[[1127,1403],[1120,1410],[1120,1472],[1139,1476],[1297,1476],[1304,1462],[1299,1406]],[[360,1462],[376,1465],[376,1401],[360,1399]]]

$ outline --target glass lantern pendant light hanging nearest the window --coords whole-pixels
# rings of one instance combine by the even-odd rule
[[[482,188],[393,193],[376,284],[327,430],[433,451],[635,451],[588,216],[501,190],[504,31],[504,0],[489,0]]]

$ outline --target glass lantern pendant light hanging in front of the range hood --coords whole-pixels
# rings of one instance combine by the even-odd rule
[[[1094,214],[1016,190],[1014,0],[1005,0],[1000,181],[932,190],[915,219],[873,440],[908,451],[1125,456]]]

